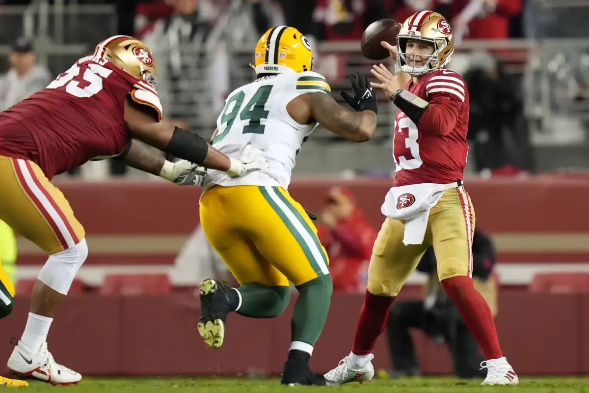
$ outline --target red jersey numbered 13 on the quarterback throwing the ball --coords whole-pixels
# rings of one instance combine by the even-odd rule
[[[468,154],[469,108],[464,80],[455,71],[436,70],[417,82],[410,81],[406,88],[429,106],[418,124],[397,111],[394,186],[462,180]]]

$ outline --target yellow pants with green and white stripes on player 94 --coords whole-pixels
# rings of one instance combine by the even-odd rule
[[[329,274],[315,225],[282,187],[215,186],[201,198],[200,222],[240,285],[301,285]]]

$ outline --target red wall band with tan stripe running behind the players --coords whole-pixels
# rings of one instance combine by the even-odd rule
[[[172,263],[198,223],[200,187],[167,182],[57,183],[87,232],[93,264]],[[294,180],[289,192],[310,212],[319,212],[329,187],[350,187],[375,227],[391,181]],[[589,181],[554,176],[529,180],[466,179],[477,227],[491,233],[502,263],[589,262],[589,220],[584,206]],[[19,241],[19,264],[44,263],[37,247]]]

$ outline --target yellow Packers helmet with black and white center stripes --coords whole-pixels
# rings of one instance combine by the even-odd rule
[[[309,41],[297,29],[277,26],[262,35],[254,52],[257,74],[304,72],[313,68],[313,51]]]

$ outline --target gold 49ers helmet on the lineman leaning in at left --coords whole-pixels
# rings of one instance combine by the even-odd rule
[[[150,49],[143,42],[128,35],[114,35],[96,45],[94,55],[111,61],[114,65],[154,84],[155,61]]]

